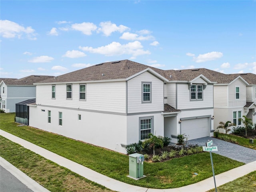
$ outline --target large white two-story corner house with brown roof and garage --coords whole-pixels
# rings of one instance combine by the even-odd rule
[[[213,136],[214,83],[193,70],[97,64],[35,83],[29,125],[121,153],[149,133]]]

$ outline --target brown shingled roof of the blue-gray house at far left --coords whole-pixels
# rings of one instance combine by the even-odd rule
[[[54,79],[54,76],[30,75],[21,79],[1,78],[1,81],[3,81],[6,85],[33,85],[36,82],[49,78]]]

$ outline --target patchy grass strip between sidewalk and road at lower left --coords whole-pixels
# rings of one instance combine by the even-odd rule
[[[51,192],[110,192],[86,178],[0,136],[0,154]]]

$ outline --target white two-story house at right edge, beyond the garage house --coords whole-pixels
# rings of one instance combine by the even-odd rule
[[[220,121],[244,126],[243,116],[256,123],[256,74],[223,74],[205,68],[194,70],[217,82],[214,84],[214,128]]]

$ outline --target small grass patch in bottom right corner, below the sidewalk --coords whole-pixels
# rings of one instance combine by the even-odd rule
[[[256,171],[217,187],[218,192],[252,192],[256,190]],[[215,192],[211,189],[207,192]]]

